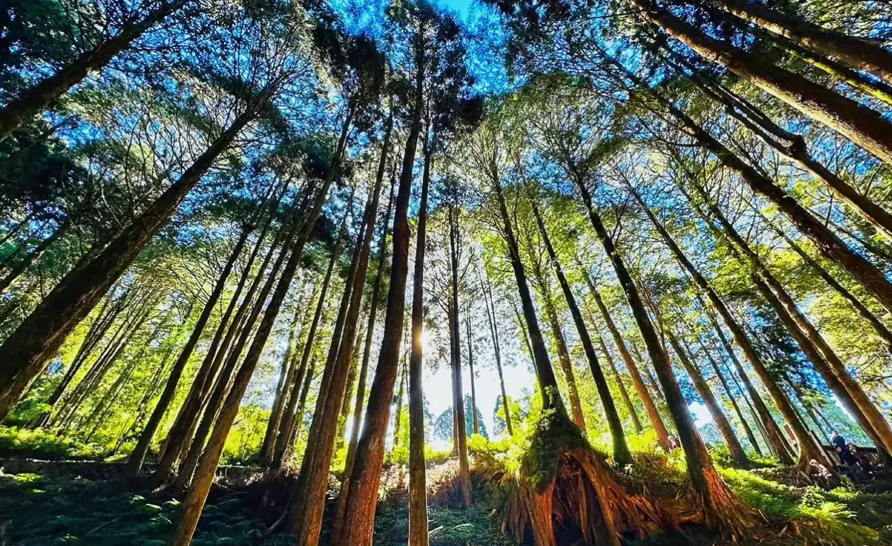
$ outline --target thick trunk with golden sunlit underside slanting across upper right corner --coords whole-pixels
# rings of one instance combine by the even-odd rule
[[[688,45],[706,61],[721,64],[764,92],[846,136],[884,163],[892,165],[892,124],[878,112],[794,72],[762,61],[753,53],[709,37],[690,23],[650,4],[648,0],[627,1],[639,8],[648,20]]]

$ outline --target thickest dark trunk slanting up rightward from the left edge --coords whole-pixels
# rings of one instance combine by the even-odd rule
[[[272,88],[261,95],[268,96]],[[261,101],[258,101],[261,102]],[[78,322],[84,319],[111,285],[127,270],[192,190],[255,116],[254,105],[211,143],[177,182],[134,219],[98,256],[65,275],[0,346],[0,420],[27,390]]]

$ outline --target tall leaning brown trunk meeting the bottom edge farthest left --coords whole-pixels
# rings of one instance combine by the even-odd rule
[[[332,159],[332,165],[328,175],[326,175],[325,183],[318,189],[318,193],[315,196],[315,202],[312,203],[312,208],[308,211],[307,215],[301,218],[300,221],[295,218],[294,227],[290,230],[290,236],[285,239],[285,247],[282,249],[282,253],[277,261],[281,263],[282,258],[288,255],[288,262],[282,270],[281,277],[276,285],[276,290],[269,299],[266,312],[263,314],[260,326],[254,334],[251,347],[248,349],[248,353],[245,354],[244,362],[235,376],[233,386],[229,391],[229,395],[227,395],[226,402],[223,403],[219,418],[211,433],[211,437],[208,439],[207,447],[205,448],[204,453],[202,453],[202,460],[196,471],[195,483],[189,489],[186,501],[183,503],[183,516],[174,532],[174,539],[173,542],[171,542],[172,546],[188,546],[189,543],[192,542],[195,526],[198,525],[198,518],[201,517],[204,502],[207,500],[208,493],[211,491],[211,484],[213,483],[214,475],[216,474],[220,455],[223,453],[223,445],[226,443],[229,429],[232,428],[232,424],[235,421],[239,405],[242,402],[248,384],[251,382],[254,368],[260,360],[260,354],[263,352],[263,347],[266,345],[269,333],[273,328],[273,323],[276,322],[276,317],[282,306],[282,302],[285,300],[285,295],[291,288],[294,273],[297,271],[297,267],[300,265],[301,259],[303,258],[304,246],[307,241],[310,240],[310,235],[313,232],[313,228],[316,226],[319,213],[321,212],[323,205],[325,205],[329,187],[335,179],[335,174],[338,171],[342,159],[341,154],[343,154],[343,148],[346,146],[350,124],[351,115],[348,110],[348,114],[343,123],[341,135],[338,139],[339,145],[336,149],[337,152]],[[296,237],[294,237],[294,235],[296,235]],[[277,270],[278,267],[274,267],[273,271]],[[266,301],[266,296],[275,281],[276,275],[271,274],[267,280],[267,285],[264,286],[260,293],[260,297],[258,297],[257,307],[260,307]],[[252,315],[254,315],[253,312]],[[252,316],[252,318],[254,317]],[[252,323],[253,321],[249,321],[249,326]],[[245,328],[245,330],[251,329],[249,327]]]

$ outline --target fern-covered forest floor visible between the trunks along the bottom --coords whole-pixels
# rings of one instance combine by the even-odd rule
[[[475,472],[475,507],[460,507],[453,487],[456,460],[430,465],[432,546],[509,546],[502,533],[499,476],[487,465]],[[811,544],[862,546],[892,544],[892,476],[860,487],[828,491],[814,485],[793,486],[782,469],[723,469],[723,477],[741,498],[764,516],[738,544],[742,546]],[[683,477],[654,459],[620,474],[635,493],[671,501],[687,489]],[[376,546],[405,544],[409,528],[404,467],[384,471],[384,500],[376,519]],[[335,484],[336,486],[336,484]],[[291,544],[287,534],[269,534],[282,512],[288,481],[260,479],[245,487],[216,487],[202,514],[195,546],[277,546]],[[275,491],[270,495],[269,491]],[[275,498],[278,495],[278,498]],[[163,546],[177,521],[179,501],[169,494],[134,493],[113,479],[85,479],[34,473],[0,474],[0,546],[102,545]],[[665,534],[637,545],[696,546],[731,544],[688,526],[685,536]],[[563,545],[562,545],[563,546]],[[575,546],[567,544],[566,546]]]

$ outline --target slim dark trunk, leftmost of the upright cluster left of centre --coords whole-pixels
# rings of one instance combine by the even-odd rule
[[[155,436],[155,432],[158,430],[158,426],[161,425],[161,419],[164,418],[164,414],[168,411],[169,405],[173,401],[173,397],[177,392],[179,379],[182,377],[183,371],[186,370],[186,364],[189,363],[189,358],[192,356],[195,346],[198,345],[198,341],[202,338],[204,327],[207,326],[208,321],[211,319],[211,313],[213,313],[214,308],[217,306],[219,297],[223,295],[223,290],[226,289],[227,281],[229,281],[229,274],[232,273],[232,269],[235,266],[235,260],[241,256],[244,245],[248,242],[248,235],[250,235],[251,232],[252,228],[249,226],[244,226],[242,229],[242,234],[235,243],[235,249],[233,249],[232,253],[229,255],[229,259],[223,267],[223,271],[220,273],[217,284],[214,286],[213,291],[211,291],[211,296],[208,297],[208,301],[204,304],[202,314],[199,315],[198,321],[195,322],[192,335],[189,336],[188,341],[186,341],[186,346],[180,351],[177,362],[173,364],[167,385],[164,386],[164,390],[161,392],[161,397],[158,399],[158,403],[155,404],[152,416],[145,424],[143,433],[139,436],[139,440],[136,442],[136,447],[133,448],[133,452],[130,453],[130,457],[127,460],[125,472],[129,476],[136,476],[143,468],[145,454],[149,451],[149,447],[152,444],[152,439]]]

